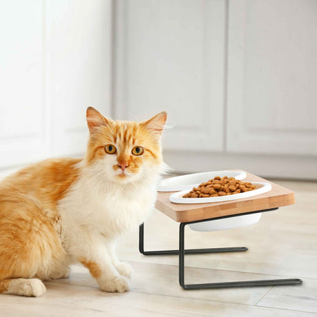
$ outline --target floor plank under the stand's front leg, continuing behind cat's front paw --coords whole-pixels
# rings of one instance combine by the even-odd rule
[[[270,287],[243,287],[241,289],[206,289],[185,290],[178,285],[178,267],[174,265],[157,265],[152,263],[131,263],[134,269],[132,292],[159,294],[182,298],[217,300],[227,303],[256,305]],[[215,269],[198,269],[188,267],[185,270],[186,283],[212,283],[230,280],[272,279],[276,276],[249,274],[244,272],[221,271]],[[98,287],[84,267],[73,267],[70,278],[55,280],[52,283]]]

